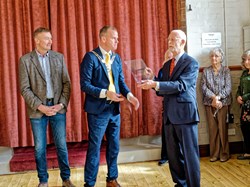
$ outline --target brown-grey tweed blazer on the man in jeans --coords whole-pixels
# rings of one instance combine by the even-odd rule
[[[65,107],[59,113],[65,113],[69,103],[71,83],[64,56],[50,50],[49,62],[54,89],[54,104],[63,103]],[[43,113],[37,108],[41,104],[46,104],[46,81],[35,50],[22,56],[19,60],[19,84],[29,117],[42,117]]]

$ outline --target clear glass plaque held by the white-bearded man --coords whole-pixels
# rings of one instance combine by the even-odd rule
[[[126,64],[129,71],[132,73],[137,83],[142,83],[143,80],[148,80],[149,77],[146,71],[147,66],[142,59],[128,60],[124,63]]]

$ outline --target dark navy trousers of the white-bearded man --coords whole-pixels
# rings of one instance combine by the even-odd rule
[[[181,187],[200,187],[200,157],[197,122],[173,125],[169,121],[166,129],[169,169]]]

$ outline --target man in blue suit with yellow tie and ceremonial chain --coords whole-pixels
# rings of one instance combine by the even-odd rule
[[[85,92],[89,144],[84,169],[85,187],[94,186],[98,174],[100,147],[104,134],[107,139],[107,187],[119,187],[117,157],[120,138],[120,102],[124,97],[139,108],[139,101],[124,81],[122,61],[114,53],[118,32],[104,26],[99,33],[99,47],[85,54],[81,63],[81,90]],[[122,97],[124,96],[124,97]]]

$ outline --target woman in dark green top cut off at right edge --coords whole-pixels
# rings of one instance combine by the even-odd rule
[[[240,77],[240,85],[236,98],[237,102],[242,105],[240,122],[245,153],[237,158],[239,160],[245,160],[250,159],[250,49],[243,53],[241,64],[244,71]]]

